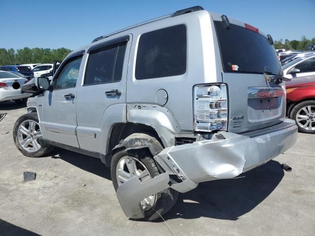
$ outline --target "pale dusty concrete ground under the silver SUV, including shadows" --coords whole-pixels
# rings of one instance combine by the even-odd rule
[[[5,102],[3,113],[0,236],[315,234],[315,135],[300,133],[293,148],[243,177],[199,184],[180,194],[166,222],[146,222],[126,218],[99,159],[59,148],[46,157],[23,156],[12,129],[26,110]],[[24,171],[36,172],[36,179],[24,182]]]

